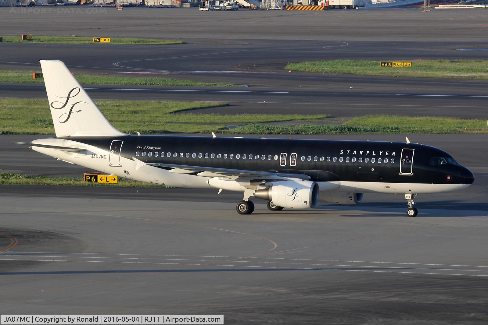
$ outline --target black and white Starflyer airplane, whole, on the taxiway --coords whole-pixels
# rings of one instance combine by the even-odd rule
[[[273,211],[319,200],[356,204],[364,193],[418,194],[467,188],[474,175],[448,153],[391,141],[339,141],[125,134],[114,128],[63,62],[41,60],[56,137],[29,148],[58,160],[153,184],[240,191],[240,214],[263,199]]]

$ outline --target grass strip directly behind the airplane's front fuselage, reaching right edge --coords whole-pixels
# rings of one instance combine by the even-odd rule
[[[367,115],[343,125],[245,125],[227,134],[487,134],[487,120],[451,117]]]

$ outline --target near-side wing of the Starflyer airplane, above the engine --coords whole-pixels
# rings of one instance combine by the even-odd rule
[[[215,167],[202,167],[202,166],[187,166],[187,165],[173,165],[163,163],[148,163],[149,166],[160,167],[168,169],[169,172],[182,173],[182,174],[195,174],[197,176],[204,177],[264,177],[264,176],[278,176],[278,177],[290,177],[300,178],[304,180],[310,179],[310,176],[305,174],[294,173],[282,173],[282,172],[258,172],[247,171],[241,169],[228,169],[228,168],[215,168]]]

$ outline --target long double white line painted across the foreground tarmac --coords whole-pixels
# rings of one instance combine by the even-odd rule
[[[22,254],[41,254],[22,255]],[[52,254],[52,256],[47,256]],[[86,256],[83,256],[86,255]],[[116,256],[116,257],[114,257]],[[163,258],[169,257],[169,258]],[[195,259],[192,259],[195,258]],[[196,259],[199,258],[199,259]],[[205,259],[201,259],[205,258]],[[220,264],[215,259],[241,259],[231,264]],[[284,257],[244,257],[244,256],[210,256],[210,255],[153,255],[153,254],[110,254],[110,253],[67,253],[67,252],[11,252],[0,255],[6,261],[41,261],[68,263],[122,263],[122,264],[159,264],[185,266],[213,266],[233,268],[269,268],[278,270],[323,270],[323,271],[356,271],[379,273],[407,273],[431,275],[488,276],[488,266],[463,264],[433,264],[411,262],[373,262],[347,260],[320,260]],[[158,262],[161,261],[161,262]],[[164,261],[164,262],[163,262]],[[166,262],[167,261],[167,262]],[[174,261],[174,262],[173,262]],[[195,261],[196,263],[178,263]],[[230,262],[227,260],[226,262]],[[225,263],[225,261],[222,261]],[[322,262],[322,263],[321,263]],[[325,262],[325,263],[324,263]],[[329,264],[330,263],[330,264]],[[277,265],[278,264],[278,265]],[[452,267],[452,268],[450,268]]]

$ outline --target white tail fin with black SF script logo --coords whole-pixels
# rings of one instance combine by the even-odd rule
[[[41,60],[56,136],[124,135],[114,128],[61,61]]]

